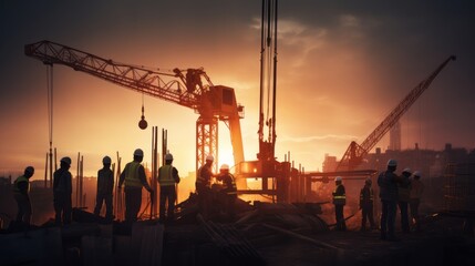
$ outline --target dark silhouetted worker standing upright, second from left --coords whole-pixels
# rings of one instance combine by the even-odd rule
[[[62,157],[60,168],[53,174],[53,198],[56,225],[71,224],[73,193],[72,175],[70,172],[71,158]]]

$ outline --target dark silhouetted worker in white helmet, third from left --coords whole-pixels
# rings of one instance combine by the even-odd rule
[[[111,223],[112,217],[112,192],[114,190],[114,173],[111,170],[111,157],[102,158],[103,167],[97,171],[97,193],[95,196],[94,215],[99,217],[102,203],[105,202],[105,219]]]

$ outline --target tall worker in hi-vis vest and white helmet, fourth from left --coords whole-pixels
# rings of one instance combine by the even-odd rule
[[[134,151],[134,161],[127,163],[118,180],[118,190],[125,183],[125,222],[137,221],[138,212],[142,206],[142,187],[148,191],[153,198],[154,191],[148,185],[145,176],[145,168],[141,164],[144,160],[144,152],[141,149]]]

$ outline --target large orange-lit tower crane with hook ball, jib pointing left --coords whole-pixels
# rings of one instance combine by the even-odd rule
[[[27,44],[24,53],[44,64],[63,64],[146,95],[193,109],[199,114],[196,121],[196,170],[205,163],[207,155],[218,157],[218,121],[225,122],[229,127],[235,164],[244,162],[239,122],[244,117],[244,106],[237,104],[233,88],[214,85],[203,68],[163,71],[137,66],[51,41]],[[142,115],[141,129],[146,126],[143,122]],[[216,165],[215,160],[215,170]],[[238,185],[239,183],[241,182]]]

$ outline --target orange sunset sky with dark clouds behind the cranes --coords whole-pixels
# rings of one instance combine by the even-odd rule
[[[47,68],[23,47],[50,40],[117,62],[161,69],[203,66],[235,88],[245,105],[246,160],[258,152],[259,0],[0,1],[0,176],[27,165],[43,178],[49,149]],[[281,0],[278,22],[276,155],[307,171],[324,154],[361,143],[451,54],[451,62],[403,116],[402,146],[475,147],[475,1]],[[54,66],[53,146],[80,152],[85,175],[101,160],[151,162],[152,125],[168,131],[182,175],[195,167],[197,114],[145,96],[149,127],[138,129],[142,94],[63,65]],[[219,124],[219,162],[233,164]],[[376,146],[383,151],[389,137]],[[75,173],[75,167],[73,167]]]

